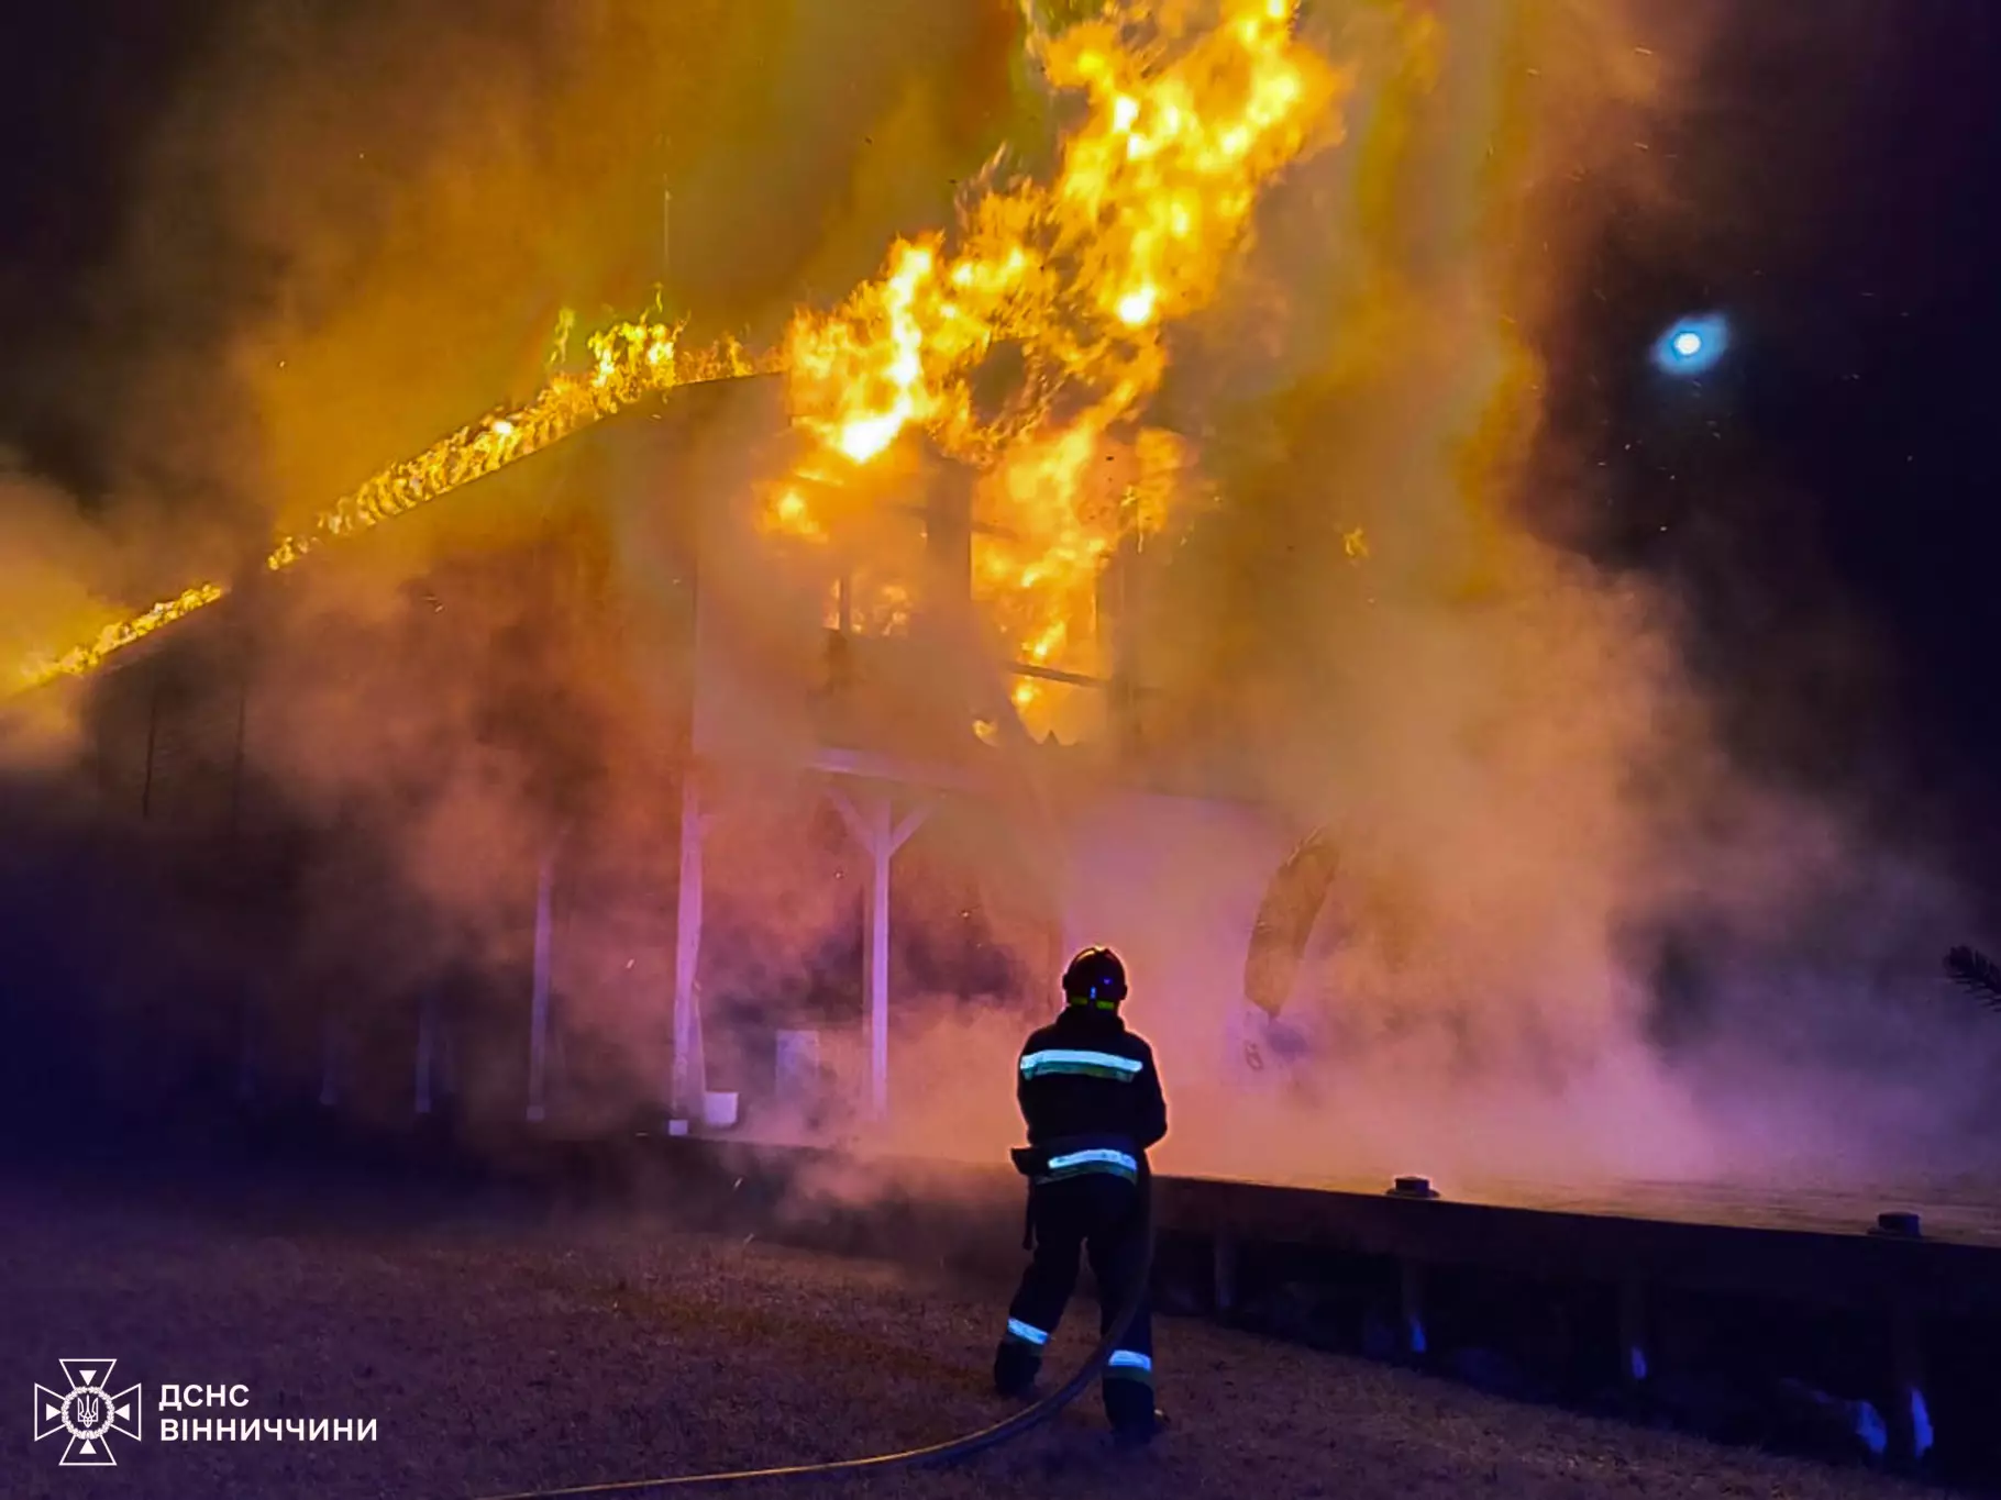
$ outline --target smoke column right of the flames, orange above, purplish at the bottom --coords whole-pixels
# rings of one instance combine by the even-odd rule
[[[1333,830],[1335,898],[1279,1024],[1227,1022],[1259,880],[1227,820],[1149,844],[1135,824],[1167,814],[1137,810],[1101,870],[1131,898],[1073,934],[1135,960],[1171,1168],[1865,1182],[1979,1140],[1995,1042],[1935,984],[1957,892],[1735,754],[1673,580],[1545,540],[1613,498],[1547,396],[1587,356],[1609,222],[1699,238],[1661,158],[1715,106],[1713,42],[1715,18],[1643,32],[1607,6],[1355,12],[1327,36],[1361,80],[1349,140],[1293,174],[1177,350],[1169,420],[1225,500],[1173,538],[1145,676],[1183,704],[1157,732],[1185,760],[1245,770],[1261,746],[1267,804]],[[912,1090],[966,1106],[892,1144],[1005,1144],[972,1104],[992,1038],[898,1048]]]

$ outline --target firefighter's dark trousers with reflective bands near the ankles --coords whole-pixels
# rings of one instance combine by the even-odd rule
[[[1043,1366],[1043,1348],[1077,1290],[1079,1252],[1099,1282],[1099,1332],[1131,1296],[1145,1260],[1141,1188],[1125,1176],[1087,1172],[1031,1188],[1035,1258],[1009,1304],[1007,1334],[994,1352],[994,1386],[1019,1396]],[[1139,1312],[1105,1366],[1105,1414],[1117,1428],[1153,1422],[1153,1308],[1141,1288]]]

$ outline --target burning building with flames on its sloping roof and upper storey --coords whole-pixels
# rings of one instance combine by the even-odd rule
[[[568,1076],[564,1108],[692,1120],[826,1036],[880,1118],[898,972],[1041,1006],[1085,940],[1127,950],[1165,1046],[1231,1074],[1287,836],[1233,798],[1243,756],[1171,732],[1193,710],[1149,666],[1201,488],[1153,408],[1169,330],[1219,294],[1259,190],[1333,138],[1345,80],[1289,0],[1213,22],[1115,4],[1039,34],[1075,106],[1055,168],[996,166],[952,234],[898,242],[768,356],[610,328],[244,582],[30,672],[130,658],[96,700],[100,810],[222,850],[238,894],[290,892],[318,934],[310,974],[212,1006],[244,1090],[422,1112],[448,1084],[536,1118]],[[362,624],[368,590],[312,606],[370,570],[400,584]],[[920,972],[954,926],[960,956]]]

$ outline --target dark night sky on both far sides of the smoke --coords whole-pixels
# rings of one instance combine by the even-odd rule
[[[110,274],[136,148],[242,8],[70,0],[16,8],[0,38],[0,448],[86,500],[120,350],[144,348]],[[1945,838],[2001,886],[2001,14],[1739,10],[1653,142],[1671,202],[1621,214],[1575,288],[1553,412],[1563,462],[1601,482],[1587,512],[1537,518],[1683,586],[1747,764]],[[1659,376],[1649,344],[1707,310],[1729,358]],[[226,334],[190,318],[188,338]]]

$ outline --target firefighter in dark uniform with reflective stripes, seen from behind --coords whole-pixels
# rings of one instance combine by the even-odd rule
[[[1079,1252],[1099,1282],[1099,1328],[1111,1328],[1145,1258],[1147,1150],[1167,1134],[1167,1100],[1153,1048],[1119,1018],[1125,964],[1111,948],[1085,948],[1063,974],[1063,1014],[1021,1050],[1017,1100],[1029,1148],[1015,1166],[1029,1178],[1029,1248],[994,1352],[994,1388],[1023,1396],[1043,1348],[1077,1290]],[[1129,1442],[1161,1424],[1153,1404],[1153,1316],[1139,1312],[1105,1366],[1105,1414]]]

